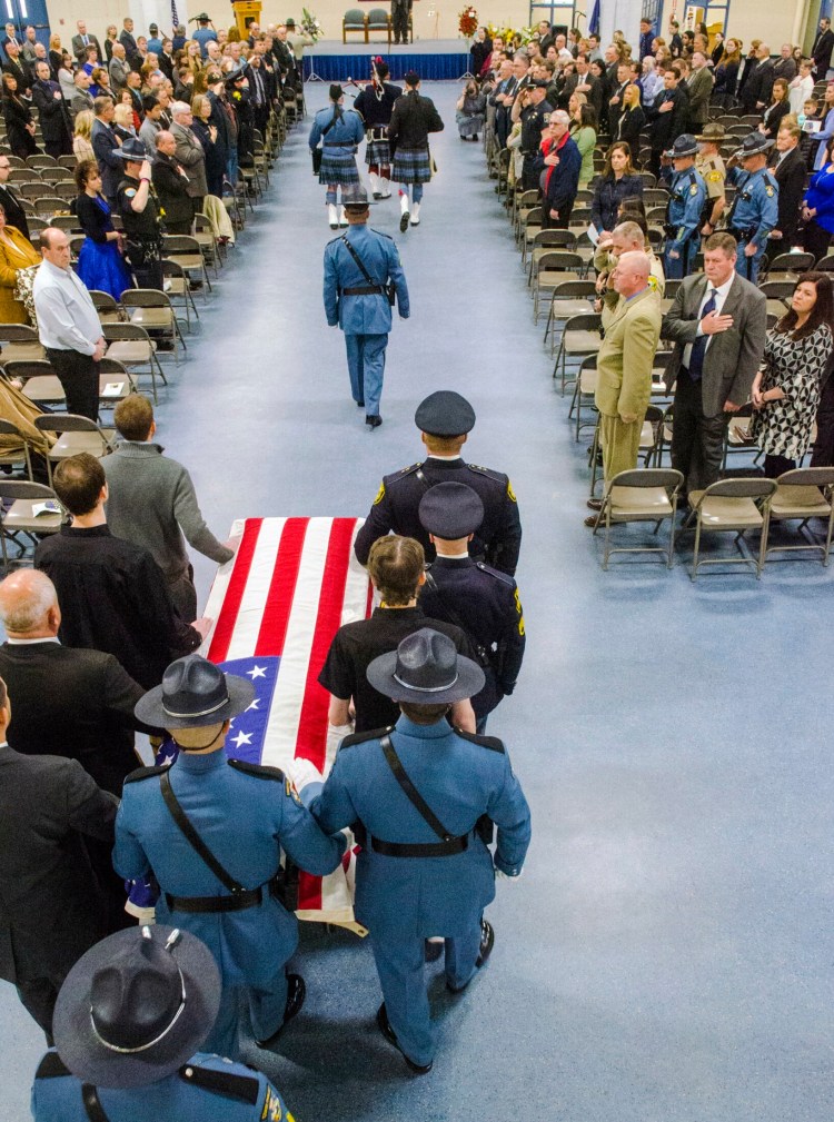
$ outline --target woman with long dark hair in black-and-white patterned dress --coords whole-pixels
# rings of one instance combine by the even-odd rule
[[[828,275],[803,274],[790,311],[768,332],[764,361],[753,379],[752,435],[764,452],[769,479],[795,468],[810,447],[833,322]]]

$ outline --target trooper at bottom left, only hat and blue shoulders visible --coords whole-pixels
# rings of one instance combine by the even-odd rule
[[[132,927],[97,944],[61,987],[35,1122],[292,1122],[265,1075],[200,1051],[220,992],[187,931]]]

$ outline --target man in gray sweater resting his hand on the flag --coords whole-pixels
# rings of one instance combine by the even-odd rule
[[[156,422],[149,399],[130,394],[117,405],[113,422],[121,441],[102,460],[110,531],[153,553],[174,607],[183,619],[194,619],[196,589],[185,541],[218,564],[230,561],[235,550],[219,542],[205,525],[185,468],[163,456],[162,445],[154,443]]]

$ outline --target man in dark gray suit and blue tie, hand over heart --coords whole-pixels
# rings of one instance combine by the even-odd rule
[[[735,272],[737,242],[714,233],[704,273],[684,279],[663,316],[661,338],[675,343],[666,387],[675,387],[672,467],[686,491],[703,490],[721,472],[724,414],[750,397],[764,351],[764,294]]]

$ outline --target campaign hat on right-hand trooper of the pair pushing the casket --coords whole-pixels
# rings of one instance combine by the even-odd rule
[[[396,651],[381,654],[368,666],[367,679],[392,701],[442,705],[462,701],[484,688],[484,671],[458,654],[448,635],[421,627],[406,635]]]

